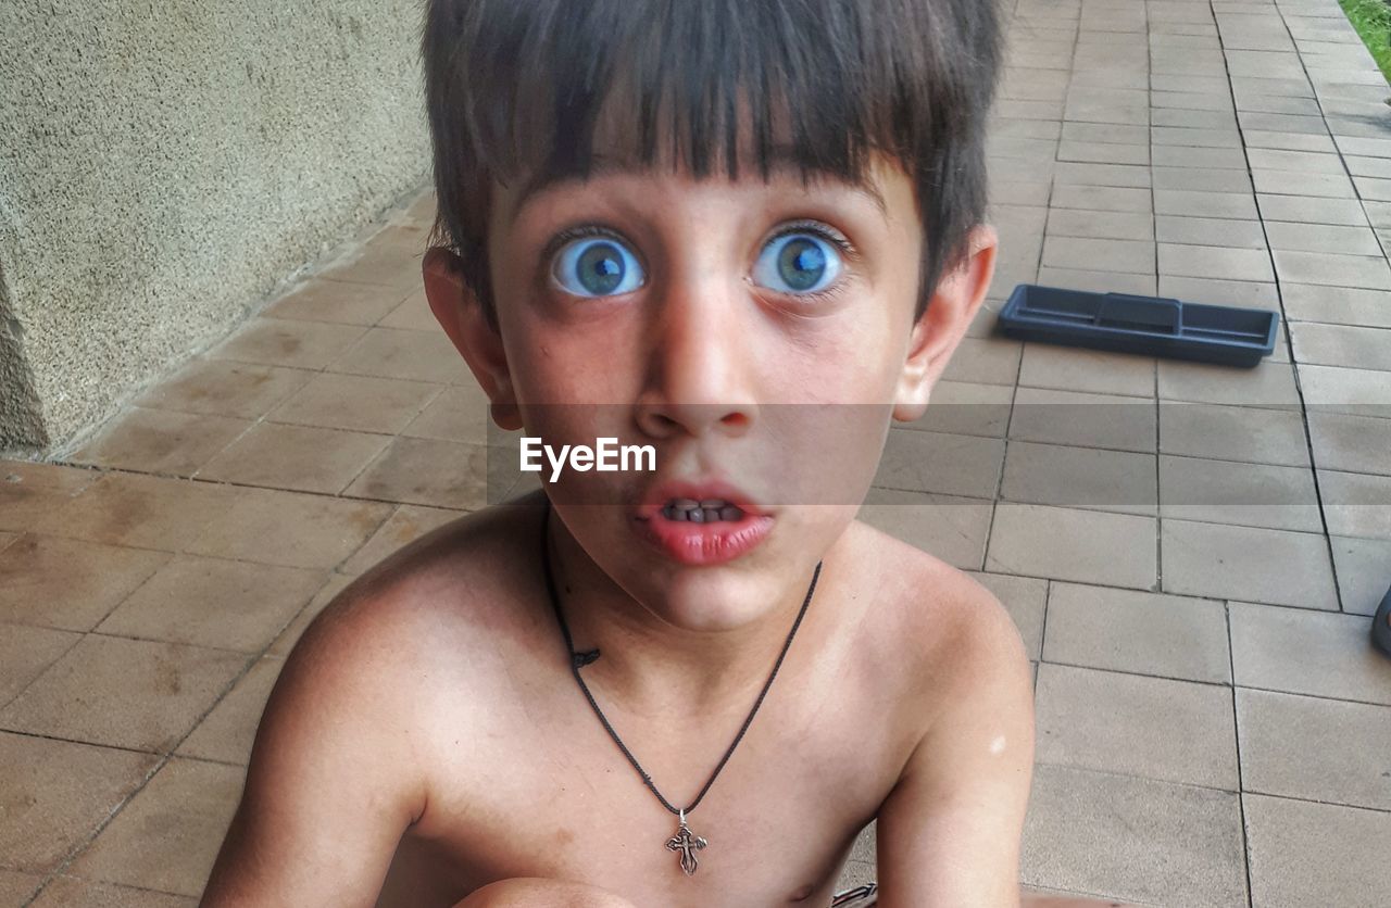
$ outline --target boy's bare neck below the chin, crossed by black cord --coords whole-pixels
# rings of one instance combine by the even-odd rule
[[[775,608],[747,624],[691,630],[662,620],[619,587],[576,542],[563,521],[547,520],[549,570],[576,652],[600,651],[580,669],[606,704],[651,719],[744,713],[796,637],[814,645],[815,606],[803,612],[812,573],[791,583]],[[790,649],[796,649],[793,642]],[[791,655],[787,656],[791,659]]]

